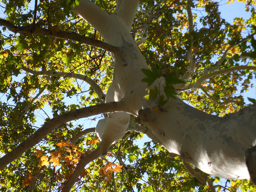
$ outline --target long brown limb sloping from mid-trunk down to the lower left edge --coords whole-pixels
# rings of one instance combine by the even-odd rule
[[[6,154],[0,158],[0,169],[4,168],[7,164],[11,163],[18,157],[20,157],[24,152],[29,150],[35,144],[40,142],[45,138],[52,130],[57,126],[67,123],[72,120],[89,117],[93,115],[98,115],[101,113],[111,113],[111,112],[121,112],[123,111],[123,106],[121,101],[119,102],[108,102],[101,103],[93,106],[88,106],[86,108],[77,109],[67,113],[63,113],[57,117],[52,118],[42,125],[33,135],[28,139],[20,143],[13,151]]]

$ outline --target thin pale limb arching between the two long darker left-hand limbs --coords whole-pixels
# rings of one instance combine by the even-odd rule
[[[102,90],[100,89],[100,87],[98,86],[98,84],[92,80],[91,78],[85,76],[85,75],[81,75],[81,74],[77,74],[74,72],[57,72],[57,71],[34,71],[31,70],[29,68],[26,67],[22,67],[22,70],[27,71],[29,73],[35,74],[35,75],[49,75],[49,76],[59,76],[59,77],[68,77],[68,78],[75,78],[75,79],[80,79],[83,80],[85,82],[87,82],[88,84],[90,84],[90,86],[92,87],[92,89],[96,92],[96,94],[99,97],[99,100],[101,103],[103,103],[105,101],[105,95],[102,92]]]

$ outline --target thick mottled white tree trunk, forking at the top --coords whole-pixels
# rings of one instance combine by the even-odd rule
[[[170,153],[180,155],[183,161],[203,172],[227,179],[250,178],[244,154],[256,144],[256,106],[220,118],[196,110],[179,99],[169,99],[161,110],[152,110],[159,104],[143,98],[147,85],[141,82],[145,77],[141,69],[148,67],[130,34],[138,5],[139,0],[121,0],[114,13],[107,13],[92,2],[82,0],[73,10],[106,42],[120,48],[120,54],[115,55],[113,83],[106,102],[121,100],[125,112],[109,114],[109,118],[98,125],[103,133],[99,134],[101,143],[119,140],[129,124],[129,114],[133,114],[152,129]],[[164,83],[164,79],[159,78],[152,87],[162,89]],[[164,94],[162,90],[160,93]],[[247,153],[248,157],[253,156],[253,152]]]

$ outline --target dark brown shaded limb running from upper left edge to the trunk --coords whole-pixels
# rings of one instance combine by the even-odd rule
[[[96,40],[89,37],[84,37],[79,35],[78,33],[70,33],[66,31],[58,31],[56,29],[44,29],[39,26],[39,23],[36,25],[28,25],[28,26],[15,26],[8,20],[0,18],[0,26],[5,26],[8,30],[12,31],[13,33],[25,33],[25,34],[35,34],[35,35],[43,35],[43,36],[50,36],[56,38],[65,38],[76,40],[81,44],[87,44],[90,46],[98,47],[107,51],[110,51],[115,54],[119,54],[119,50],[117,47],[107,44],[106,42]]]

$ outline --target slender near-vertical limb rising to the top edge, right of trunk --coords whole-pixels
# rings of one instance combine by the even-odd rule
[[[188,32],[189,32],[189,49],[187,51],[187,58],[190,61],[189,69],[186,73],[181,77],[181,80],[187,81],[187,79],[193,74],[196,68],[196,59],[193,56],[193,31],[194,31],[194,24],[193,24],[193,14],[191,11],[191,3],[192,1],[189,0],[187,2],[187,17],[188,17]]]

